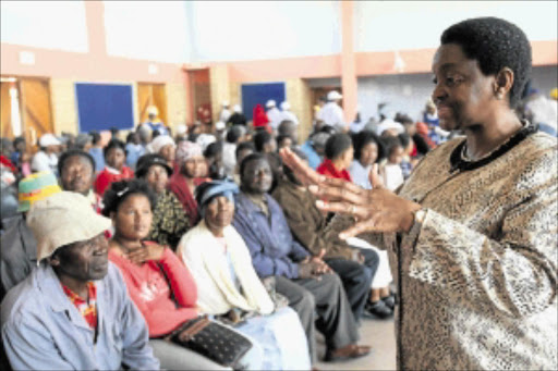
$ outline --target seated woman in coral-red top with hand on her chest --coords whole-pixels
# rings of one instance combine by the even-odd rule
[[[220,364],[167,341],[184,322],[198,317],[197,289],[186,267],[167,246],[144,239],[149,234],[155,195],[144,181],[116,182],[105,193],[102,213],[112,219],[109,259],[119,269],[132,300],[149,330],[154,353],[167,370],[214,370]],[[241,360],[250,369],[262,363],[252,347]]]

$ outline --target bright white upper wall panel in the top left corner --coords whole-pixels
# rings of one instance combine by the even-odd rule
[[[2,42],[87,52],[83,1],[0,1]]]

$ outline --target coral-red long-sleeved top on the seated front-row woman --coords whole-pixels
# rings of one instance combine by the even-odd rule
[[[112,250],[109,250],[109,259],[122,272],[130,297],[147,322],[149,337],[167,335],[185,321],[197,317],[195,281],[170,249],[165,249],[159,263],[167,273],[171,287],[156,261],[137,265]],[[171,299],[170,288],[179,308]]]

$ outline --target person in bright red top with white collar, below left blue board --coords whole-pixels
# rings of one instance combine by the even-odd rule
[[[124,166],[126,150],[122,140],[110,140],[102,150],[102,153],[105,156],[106,166],[99,175],[97,175],[94,184],[95,193],[101,196],[113,182],[134,177],[132,169]]]

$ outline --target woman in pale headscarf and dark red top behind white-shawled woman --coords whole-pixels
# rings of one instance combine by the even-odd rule
[[[202,147],[189,140],[181,141],[177,148],[177,168],[178,171],[174,171],[169,180],[168,188],[182,203],[190,219],[190,225],[196,225],[199,214],[193,195],[199,184],[209,180]]]

